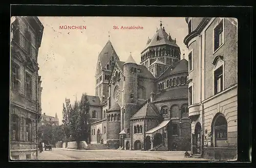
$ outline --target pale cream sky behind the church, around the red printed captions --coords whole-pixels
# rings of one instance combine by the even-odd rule
[[[181,53],[187,57],[183,43],[187,35],[184,17],[38,17],[44,25],[38,53],[42,84],[42,113],[62,120],[65,98],[80,100],[83,92],[95,95],[95,71],[99,52],[106,42],[112,42],[121,61],[132,53],[137,63],[147,38],[152,38],[160,26],[176,38]],[[59,26],[86,26],[86,30],[62,30]],[[114,30],[113,26],[140,26],[143,30]],[[182,58],[182,56],[181,56]]]

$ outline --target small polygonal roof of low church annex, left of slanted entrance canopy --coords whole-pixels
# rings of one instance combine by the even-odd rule
[[[146,103],[139,111],[137,111],[131,119],[136,119],[136,118],[144,118],[144,117],[153,117],[153,118],[158,118],[160,116],[157,108],[151,104],[151,103]]]

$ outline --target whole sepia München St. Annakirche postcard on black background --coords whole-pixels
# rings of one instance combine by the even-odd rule
[[[238,20],[12,16],[9,160],[237,161]]]

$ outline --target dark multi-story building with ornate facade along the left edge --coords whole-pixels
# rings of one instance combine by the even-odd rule
[[[37,157],[37,119],[42,88],[38,76],[38,49],[42,26],[37,17],[12,17],[10,59],[10,158]]]

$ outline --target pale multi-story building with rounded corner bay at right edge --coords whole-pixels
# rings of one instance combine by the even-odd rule
[[[237,155],[238,22],[186,17],[191,152],[208,159]]]

